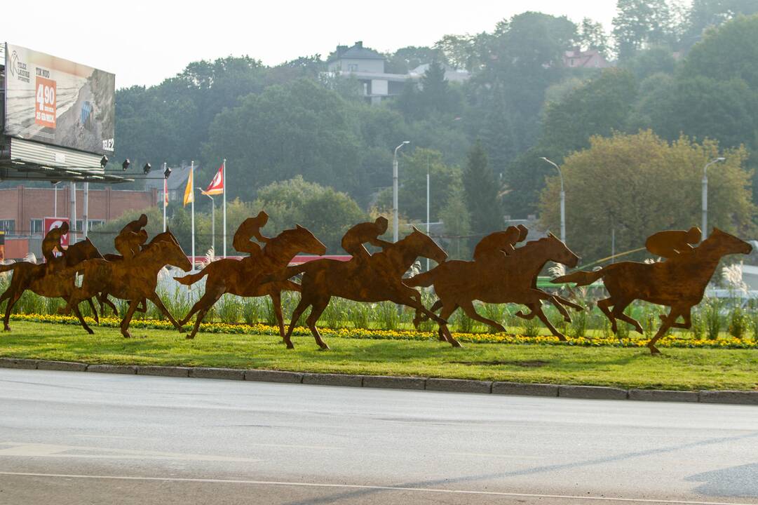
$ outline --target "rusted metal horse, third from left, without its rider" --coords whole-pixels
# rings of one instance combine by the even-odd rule
[[[181,284],[189,286],[208,276],[205,281],[205,293],[180,322],[180,325],[186,325],[189,319],[197,314],[195,326],[186,337],[194,338],[211,306],[221,298],[221,295],[230,293],[237,296],[271,296],[279,324],[279,334],[284,338],[281,292],[283,290],[299,291],[300,286],[286,279],[274,279],[272,274],[277,274],[287,267],[299,252],[322,256],[326,252],[326,246],[310,231],[298,224],[295,228],[285,230],[269,239],[257,255],[243,259],[219,259],[203,268],[198,274],[176,278]]]

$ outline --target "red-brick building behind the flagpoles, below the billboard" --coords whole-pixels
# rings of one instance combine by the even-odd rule
[[[55,210],[55,189],[17,186],[0,189],[0,231],[5,231],[5,257],[23,258],[27,252],[39,255],[42,240],[42,219],[70,217],[70,184],[58,185],[58,211]],[[83,229],[84,191],[77,185],[77,231]],[[130,210],[154,207],[158,202],[155,189],[147,191],[89,190],[89,226],[121,217]]]

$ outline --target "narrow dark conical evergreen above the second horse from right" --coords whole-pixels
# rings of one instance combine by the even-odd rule
[[[466,206],[471,215],[471,230],[478,237],[503,227],[503,212],[497,197],[498,183],[487,166],[487,152],[478,140],[468,151],[468,162],[463,171]]]

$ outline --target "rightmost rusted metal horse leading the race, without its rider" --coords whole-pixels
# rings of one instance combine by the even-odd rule
[[[681,232],[686,234],[687,232]],[[685,251],[684,248],[679,249]],[[671,308],[668,315],[661,315],[662,324],[647,343],[650,353],[660,353],[656,342],[670,328],[690,328],[692,307],[703,300],[706,286],[719,260],[728,254],[749,254],[753,247],[717,228],[699,246],[672,255],[664,262],[639,263],[619,262],[598,271],[577,271],[553,279],[553,283],[575,282],[586,286],[603,279],[610,295],[600,300],[597,306],[609,318],[613,333],[618,329],[616,319],[621,319],[643,333],[639,322],[624,313],[634,300],[645,300]],[[612,309],[611,309],[612,307]],[[676,322],[684,318],[683,323]]]

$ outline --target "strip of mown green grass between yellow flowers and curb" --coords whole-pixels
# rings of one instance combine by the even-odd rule
[[[0,356],[88,363],[221,366],[240,369],[417,375],[492,381],[594,384],[618,387],[758,389],[758,351],[647,349],[467,343],[456,349],[436,340],[362,340],[293,337],[287,350],[278,337],[199,333],[186,340],[176,331],[133,328],[124,339],[114,328],[94,335],[70,325],[13,322],[0,332]]]

